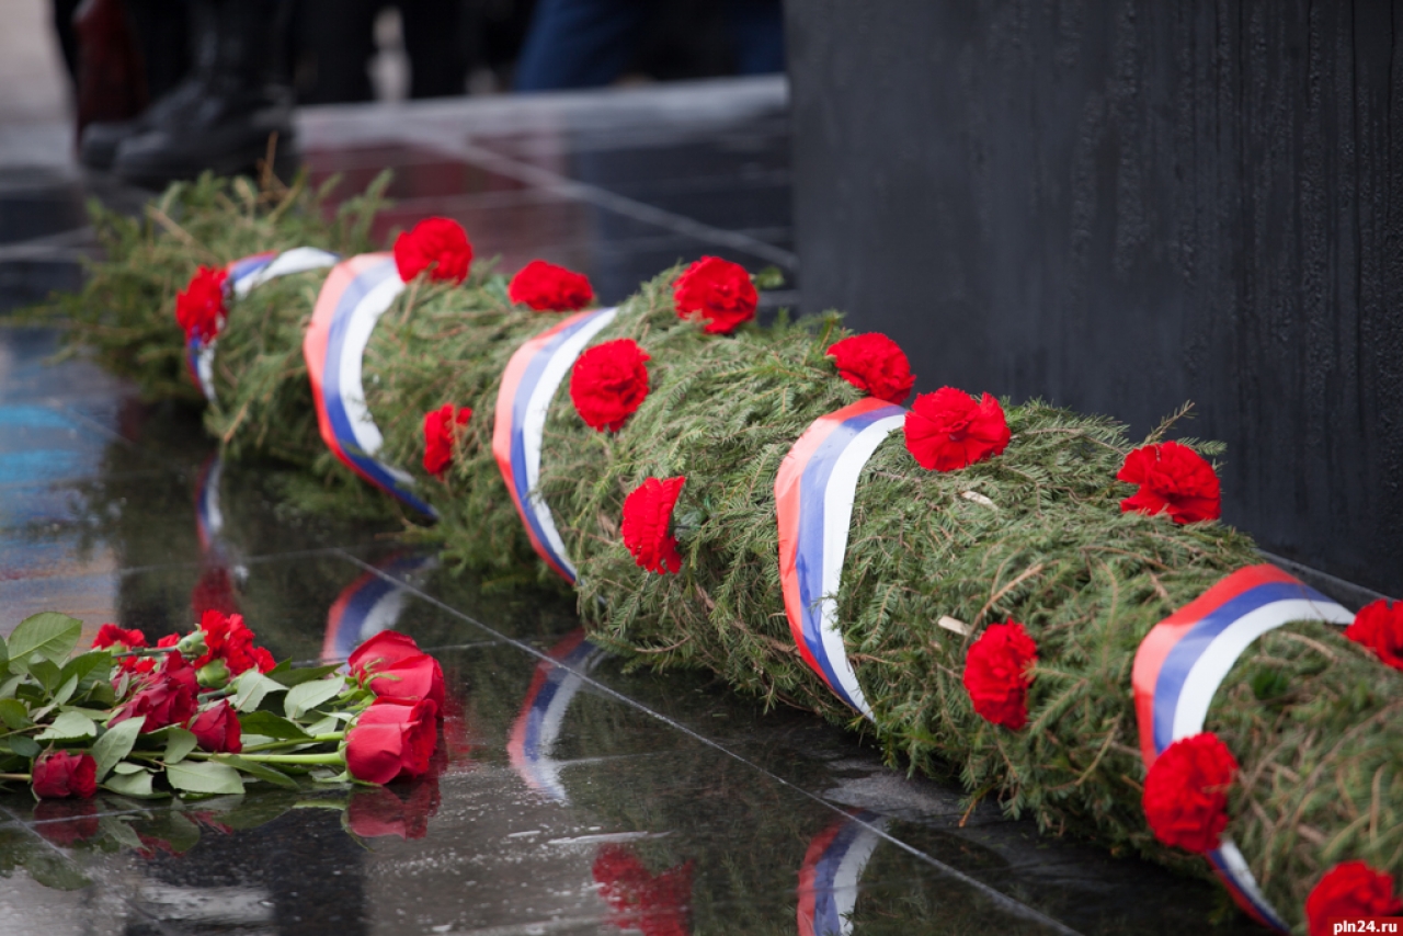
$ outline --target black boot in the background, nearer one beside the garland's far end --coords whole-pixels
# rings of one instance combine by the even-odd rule
[[[213,11],[213,66],[199,93],[116,149],[126,181],[164,185],[205,170],[253,171],[276,135],[283,166],[292,153],[292,90],[281,80],[288,0],[203,0]]]

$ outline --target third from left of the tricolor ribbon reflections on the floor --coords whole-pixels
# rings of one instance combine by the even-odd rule
[[[560,782],[560,770],[565,765],[550,755],[570,703],[605,651],[585,640],[581,627],[551,647],[547,657],[536,664],[521,713],[512,723],[506,758],[526,786],[565,803],[565,786]]]

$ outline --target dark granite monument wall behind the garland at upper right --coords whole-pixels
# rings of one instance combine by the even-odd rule
[[[1228,442],[1229,522],[1403,596],[1403,3],[786,0],[807,310]]]

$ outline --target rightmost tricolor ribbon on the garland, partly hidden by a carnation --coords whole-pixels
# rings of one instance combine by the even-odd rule
[[[1292,620],[1348,624],[1354,615],[1274,566],[1251,566],[1155,624],[1131,675],[1146,769],[1170,744],[1204,730],[1214,693],[1251,641]],[[1289,929],[1229,838],[1207,857],[1239,907],[1267,926]]]

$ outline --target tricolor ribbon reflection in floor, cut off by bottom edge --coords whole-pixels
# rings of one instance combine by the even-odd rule
[[[798,936],[849,936],[863,869],[887,818],[861,811],[814,836],[798,871]]]

